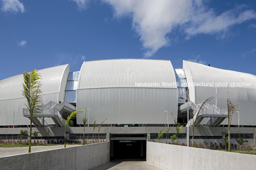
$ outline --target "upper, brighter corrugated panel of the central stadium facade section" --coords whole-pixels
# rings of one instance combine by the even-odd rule
[[[78,89],[136,87],[136,82],[160,83],[157,88],[163,87],[162,82],[176,82],[171,61],[141,59],[86,61],[81,68]]]

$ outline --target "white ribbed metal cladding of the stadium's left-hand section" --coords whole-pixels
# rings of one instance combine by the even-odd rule
[[[48,101],[62,101],[69,73],[69,65],[66,64],[38,71],[42,77],[43,104]],[[0,80],[0,126],[30,124],[29,119],[22,115],[22,108],[25,107],[24,103],[26,102],[21,94],[22,82],[22,74]],[[48,124],[54,124],[51,119],[45,120]]]

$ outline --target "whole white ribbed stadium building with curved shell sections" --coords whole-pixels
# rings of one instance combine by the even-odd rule
[[[32,119],[33,130],[40,132],[38,140],[63,139],[67,116],[85,110],[70,128],[69,140],[82,139],[85,115],[87,139],[94,133],[94,121],[100,124],[105,120],[96,137],[111,141],[112,157],[120,157],[117,150],[128,142],[136,143],[132,150],[140,148],[138,157],[144,157],[146,140],[157,140],[160,130],[171,127],[169,134],[164,134],[170,141],[176,133],[174,120],[189,126],[191,139],[196,117],[195,141],[220,143],[227,133],[228,98],[238,106],[232,117],[231,139],[242,137],[256,146],[255,75],[186,60],[181,69],[174,69],[170,60],[142,59],[85,61],[75,72],[69,67],[38,70],[43,110]],[[0,80],[1,140],[17,140],[20,130],[30,126],[22,82],[22,74]],[[180,143],[186,144],[186,133],[183,128]]]

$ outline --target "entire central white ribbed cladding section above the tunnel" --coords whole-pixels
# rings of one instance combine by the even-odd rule
[[[136,87],[160,83],[159,87]],[[162,82],[174,83],[163,87]],[[89,108],[90,124],[165,124],[177,118],[177,86],[169,60],[98,60],[84,62],[77,89],[77,110]],[[84,114],[77,115],[82,124]]]

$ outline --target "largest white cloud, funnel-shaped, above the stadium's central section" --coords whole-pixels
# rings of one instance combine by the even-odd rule
[[[116,18],[130,17],[150,57],[173,40],[171,33],[183,32],[190,38],[196,34],[224,33],[231,26],[256,19],[254,10],[238,5],[217,15],[203,0],[104,0]]]

